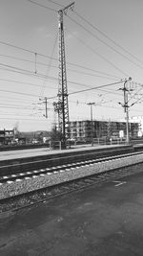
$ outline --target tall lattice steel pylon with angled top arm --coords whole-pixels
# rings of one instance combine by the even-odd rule
[[[65,7],[58,11],[58,29],[59,29],[59,76],[58,76],[58,127],[62,132],[63,148],[67,147],[67,140],[70,137],[69,132],[69,104],[68,104],[68,86],[66,72],[66,54],[64,41],[63,15],[68,10],[73,10],[73,5]]]

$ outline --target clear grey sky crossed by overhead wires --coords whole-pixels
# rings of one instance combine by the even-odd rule
[[[50,130],[57,122],[57,11],[70,3],[0,1],[0,129]],[[142,115],[142,11],[142,0],[75,0],[64,14],[70,121],[90,120],[89,103],[93,120],[123,119],[129,77],[130,117]]]

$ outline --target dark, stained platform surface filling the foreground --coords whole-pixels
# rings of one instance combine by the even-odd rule
[[[142,256],[143,174],[0,216],[1,256]]]

